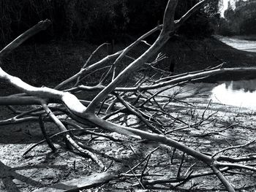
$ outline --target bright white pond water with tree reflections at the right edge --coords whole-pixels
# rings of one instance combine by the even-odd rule
[[[213,88],[214,102],[256,109],[256,80],[224,82]]]

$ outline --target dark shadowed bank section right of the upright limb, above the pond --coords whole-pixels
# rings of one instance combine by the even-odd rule
[[[162,48],[168,58],[162,69],[168,69],[170,61],[175,63],[174,72],[206,69],[225,62],[223,67],[256,66],[256,53],[236,50],[214,37],[208,39],[174,39]]]

